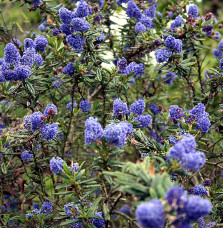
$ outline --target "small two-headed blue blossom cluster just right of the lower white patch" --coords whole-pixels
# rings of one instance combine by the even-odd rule
[[[142,63],[137,64],[136,62],[131,62],[127,65],[127,60],[124,57],[119,59],[117,67],[120,74],[132,75],[134,78],[142,77],[145,69],[145,66]]]

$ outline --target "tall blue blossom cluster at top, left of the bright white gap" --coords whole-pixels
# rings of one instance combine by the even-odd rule
[[[77,52],[83,51],[83,45],[86,40],[84,36],[77,35],[78,32],[86,32],[91,25],[85,20],[89,14],[89,5],[86,1],[79,2],[75,12],[71,12],[66,8],[61,8],[59,17],[62,21],[60,30],[66,35],[67,43]]]

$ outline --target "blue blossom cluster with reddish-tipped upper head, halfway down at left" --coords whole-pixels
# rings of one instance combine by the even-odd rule
[[[42,112],[34,112],[29,116],[24,117],[23,126],[28,131],[32,130],[35,132],[36,130],[40,130],[43,139],[51,140],[53,139],[58,132],[58,125],[55,123],[45,124],[44,120],[49,118],[53,118],[57,114],[57,107],[54,104],[48,104],[44,110],[44,114]]]

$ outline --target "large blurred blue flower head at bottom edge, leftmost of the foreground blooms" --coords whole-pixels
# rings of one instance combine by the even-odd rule
[[[136,218],[142,228],[163,228],[165,224],[165,211],[162,202],[152,199],[141,203],[136,209]]]

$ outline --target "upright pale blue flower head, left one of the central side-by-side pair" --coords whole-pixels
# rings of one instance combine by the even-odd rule
[[[85,121],[85,143],[93,143],[96,140],[100,140],[103,135],[103,129],[100,123],[98,123],[96,118],[89,117]]]

